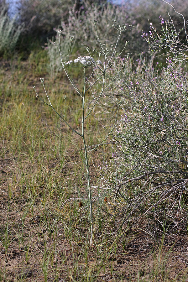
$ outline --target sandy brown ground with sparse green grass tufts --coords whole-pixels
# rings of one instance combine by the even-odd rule
[[[37,60],[3,61],[0,72],[0,281],[186,281],[186,234],[160,232],[144,217],[118,230],[116,218],[109,216],[110,198],[105,201],[97,190],[93,197],[100,205],[93,207],[90,247],[86,177],[82,152],[76,152],[82,144],[36,100],[32,86],[38,83],[42,91],[37,81],[44,75],[45,55]],[[57,109],[65,94],[72,95],[67,116],[75,112],[70,122],[79,126],[76,109],[81,107],[61,78],[49,81],[49,94]],[[88,140],[98,143],[101,124],[91,118],[86,126]],[[104,145],[90,158],[99,162],[109,153]],[[96,184],[91,159],[90,167]]]

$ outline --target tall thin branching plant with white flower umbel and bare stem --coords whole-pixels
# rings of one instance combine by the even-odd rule
[[[116,114],[116,118],[114,121],[114,126],[112,126],[111,130],[108,131],[107,136],[104,138],[104,140],[97,145],[93,145],[92,149],[89,148],[86,145],[86,137],[85,137],[85,122],[86,119],[90,117],[91,112],[93,111],[93,109],[96,107],[97,103],[99,102],[100,98],[102,97],[104,91],[113,83],[113,81],[115,81],[115,79],[117,78],[118,74],[120,73],[120,71],[123,69],[124,65],[127,62],[127,59],[129,57],[129,54],[127,54],[126,59],[124,60],[124,64],[122,65],[122,68],[119,70],[119,72],[112,77],[111,81],[109,82],[106,81],[105,79],[105,74],[106,71],[109,68],[112,68],[113,65],[115,64],[115,62],[118,60],[118,57],[121,56],[121,54],[123,53],[126,45],[128,42],[125,43],[125,46],[122,50],[121,53],[119,53],[117,55],[117,46],[118,43],[120,41],[121,35],[123,32],[132,29],[133,27],[130,25],[129,27],[126,27],[125,24],[123,25],[117,25],[116,20],[115,20],[115,24],[113,24],[113,28],[119,33],[117,36],[117,41],[115,46],[111,45],[111,47],[105,48],[105,45],[102,44],[101,39],[99,39],[98,34],[97,34],[97,21],[94,21],[94,25],[95,25],[95,32],[96,32],[96,36],[97,39],[99,41],[100,44],[100,50],[96,50],[94,49],[94,55],[92,55],[89,51],[89,48],[86,48],[86,51],[88,52],[87,56],[80,56],[74,60],[69,60],[69,56],[70,56],[70,52],[68,54],[68,61],[64,62],[62,59],[62,55],[61,55],[61,50],[60,50],[60,38],[61,38],[61,34],[62,31],[59,32],[59,44],[56,44],[56,47],[59,49],[59,53],[60,53],[60,58],[61,58],[61,64],[63,66],[63,69],[65,71],[66,76],[68,77],[70,83],[72,84],[72,86],[74,87],[75,91],[78,93],[78,95],[80,96],[81,99],[81,104],[82,104],[82,117],[81,117],[81,128],[80,131],[77,131],[76,129],[74,129],[66,120],[65,120],[65,111],[66,111],[66,99],[68,99],[66,96],[64,97],[65,99],[65,107],[64,107],[64,114],[61,116],[53,107],[53,105],[50,102],[50,97],[48,96],[45,86],[44,86],[44,78],[40,79],[41,83],[44,86],[44,91],[46,93],[46,96],[48,98],[48,103],[46,103],[49,107],[51,107],[56,114],[69,126],[69,128],[76,133],[77,135],[79,135],[82,138],[83,141],[83,145],[84,145],[84,154],[85,154],[85,165],[86,165],[86,175],[87,175],[87,188],[88,188],[88,198],[89,198],[89,219],[90,219],[90,226],[91,226],[91,245],[93,243],[93,235],[94,235],[94,227],[93,227],[93,214],[92,214],[92,197],[91,197],[91,185],[90,185],[90,171],[89,171],[89,164],[88,164],[88,153],[93,150],[96,149],[98,146],[100,146],[101,144],[103,144],[103,142],[108,138],[108,136],[112,133],[114,126],[115,126],[115,122],[116,122],[116,118],[117,118],[117,114],[118,114],[118,110],[117,110],[117,114]],[[70,46],[71,46],[71,42],[73,40],[73,37],[70,38]],[[69,49],[70,51],[70,49]],[[96,59],[95,59],[96,58]],[[80,87],[78,85],[76,85],[74,78],[71,76],[71,68],[72,67],[77,67],[80,68],[81,71],[83,71],[84,75],[83,75],[83,86]],[[97,76],[96,76],[96,80],[93,81],[93,75],[95,73],[95,71],[99,70],[97,72]],[[86,77],[86,72],[87,72],[87,77]],[[88,75],[89,72],[89,75]],[[94,87],[96,85],[98,85],[98,83],[101,82],[101,87],[100,90],[98,92],[98,94],[95,94],[95,91],[93,91]],[[35,86],[34,86],[35,89]],[[90,108],[86,108],[86,93],[90,91],[91,92],[91,96],[90,96]],[[35,90],[36,92],[36,90]],[[38,96],[37,92],[36,92],[36,96]],[[39,99],[44,102],[40,97]],[[119,109],[120,105],[121,105],[121,101],[117,100],[114,101],[117,104],[117,109]]]

